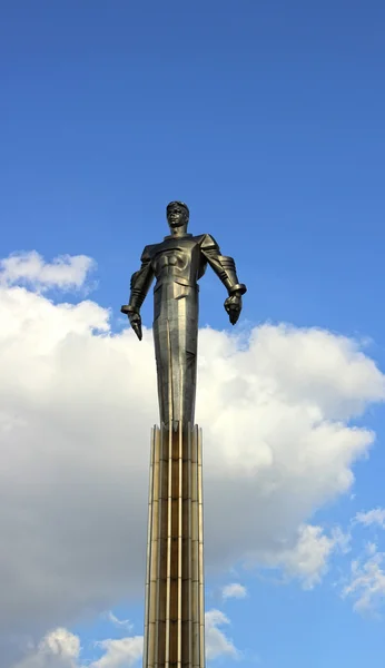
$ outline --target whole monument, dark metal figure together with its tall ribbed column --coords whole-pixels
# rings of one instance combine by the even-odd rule
[[[194,424],[198,281],[207,264],[225,285],[233,325],[246,286],[209,234],[187,233],[189,210],[167,206],[170,234],[146,246],[121,307],[141,340],[140,307],[154,288],[160,428],[151,434],[144,668],[205,667],[201,431]]]

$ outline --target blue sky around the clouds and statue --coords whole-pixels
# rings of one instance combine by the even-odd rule
[[[379,0],[2,3],[1,257],[95,258],[90,298],[119,333],[141,249],[167,234],[166,204],[181,199],[190,229],[236,258],[248,286],[240,328],[320,327],[365,341],[385,370],[384,21]],[[228,330],[214,275],[200,294],[201,325]],[[357,423],[377,434],[369,458],[355,463],[354,488],[309,518],[344,531],[385,504],[384,409],[371,404]],[[384,620],[336,591],[366,541],[384,549],[377,529],[352,530],[352,552],[309,591],[240,563],[210,573],[208,606],[230,619],[244,665],[383,665]],[[248,595],[224,602],[231,578]],[[122,593],[113,611],[141,633],[139,599]],[[95,618],[68,626],[83,660],[87,642],[126,632]]]

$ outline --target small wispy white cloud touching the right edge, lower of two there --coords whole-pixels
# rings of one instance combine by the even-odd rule
[[[354,600],[356,612],[375,613],[385,602],[385,553],[375,543],[368,543],[366,556],[352,561],[351,579],[343,589],[343,598]]]

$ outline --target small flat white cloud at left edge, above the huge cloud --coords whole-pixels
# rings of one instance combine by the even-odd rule
[[[0,261],[0,283],[27,284],[40,291],[81,287],[95,262],[87,255],[60,255],[46,263],[39,253],[14,253]]]

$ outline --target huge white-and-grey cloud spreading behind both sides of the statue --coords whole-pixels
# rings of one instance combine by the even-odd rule
[[[142,598],[158,410],[148,330],[139,343],[95,302],[53,304],[9,282],[0,316],[6,656],[10,637]],[[247,342],[203,330],[198,373],[208,573],[245,559],[316,582],[334,538],[306,527],[351,489],[374,442],[351,421],[384,400],[383,374],[358,342],[286,325]]]

